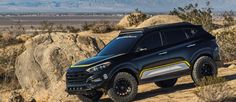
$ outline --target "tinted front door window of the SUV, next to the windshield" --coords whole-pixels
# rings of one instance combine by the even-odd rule
[[[159,32],[152,32],[145,35],[138,43],[137,50],[151,50],[162,46]],[[137,51],[136,50],[136,51]]]

